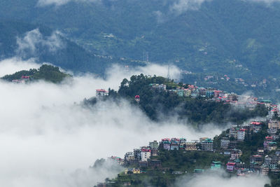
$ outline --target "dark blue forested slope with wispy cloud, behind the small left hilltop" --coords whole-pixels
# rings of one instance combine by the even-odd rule
[[[35,57],[37,62],[49,62],[73,72],[90,71],[99,76],[113,63],[111,58],[98,57],[44,25],[0,21],[0,42],[1,59]]]

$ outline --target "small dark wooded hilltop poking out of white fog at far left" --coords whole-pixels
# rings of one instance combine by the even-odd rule
[[[59,71],[58,67],[52,65],[43,64],[39,69],[22,70],[15,72],[15,74],[3,76],[1,79],[5,81],[13,81],[22,78],[22,76],[28,77],[27,81],[44,80],[52,83],[60,83],[66,77],[71,77],[69,74],[65,74]]]

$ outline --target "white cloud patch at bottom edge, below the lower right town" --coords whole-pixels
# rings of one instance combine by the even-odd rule
[[[224,171],[217,172],[206,172],[202,175],[195,177],[183,177],[177,180],[176,186],[180,187],[216,187],[216,186],[227,186],[227,187],[263,187],[266,183],[270,183],[267,176],[251,175],[247,177],[230,177]]]

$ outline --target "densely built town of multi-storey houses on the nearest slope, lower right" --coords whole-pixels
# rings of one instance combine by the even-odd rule
[[[124,158],[112,156],[109,159],[116,160],[118,164],[126,169],[124,174],[145,174],[147,168],[161,169],[165,174],[168,168],[162,167],[162,161],[157,159],[162,151],[207,151],[209,154],[218,153],[227,158],[227,162],[212,160],[208,168],[197,167],[192,171],[172,171],[174,175],[185,173],[200,174],[205,169],[225,169],[228,173],[237,176],[248,174],[267,175],[269,172],[278,174],[280,172],[280,147],[279,140],[280,120],[279,107],[272,102],[257,102],[264,104],[269,109],[265,120],[251,120],[243,125],[231,125],[221,135],[211,139],[202,137],[197,140],[186,138],[162,138],[154,140],[146,146],[134,148],[127,152]],[[240,144],[251,139],[253,135],[265,133],[261,140],[261,146],[251,151],[249,162],[241,160],[242,153]],[[132,167],[133,166],[133,167]],[[102,185],[102,184],[100,184]]]

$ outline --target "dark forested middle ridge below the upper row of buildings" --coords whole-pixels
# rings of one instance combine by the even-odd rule
[[[161,85],[163,88],[160,88]],[[153,88],[153,86],[157,86],[157,88]],[[170,116],[178,116],[183,123],[186,123],[188,119],[188,123],[192,123],[198,128],[206,123],[221,126],[228,125],[228,123],[242,124],[250,118],[267,116],[267,109],[262,105],[253,108],[245,106],[237,108],[225,100],[216,100],[217,98],[215,99],[212,95],[214,90],[209,91],[209,96],[206,96],[207,94],[201,96],[197,93],[196,96],[191,97],[187,96],[186,92],[183,94],[181,89],[187,91],[190,90],[190,87],[182,83],[174,83],[161,76],[151,77],[141,74],[132,76],[130,81],[125,78],[120,83],[118,92],[109,90],[108,95],[104,95],[104,97],[97,94],[97,97],[85,99],[83,104],[94,106],[99,99],[117,103],[122,99],[127,99],[132,104],[139,106],[151,120],[165,121]],[[194,93],[195,90],[193,90]],[[99,91],[103,94],[105,90],[97,90],[97,92]],[[139,98],[138,101],[137,98]]]

